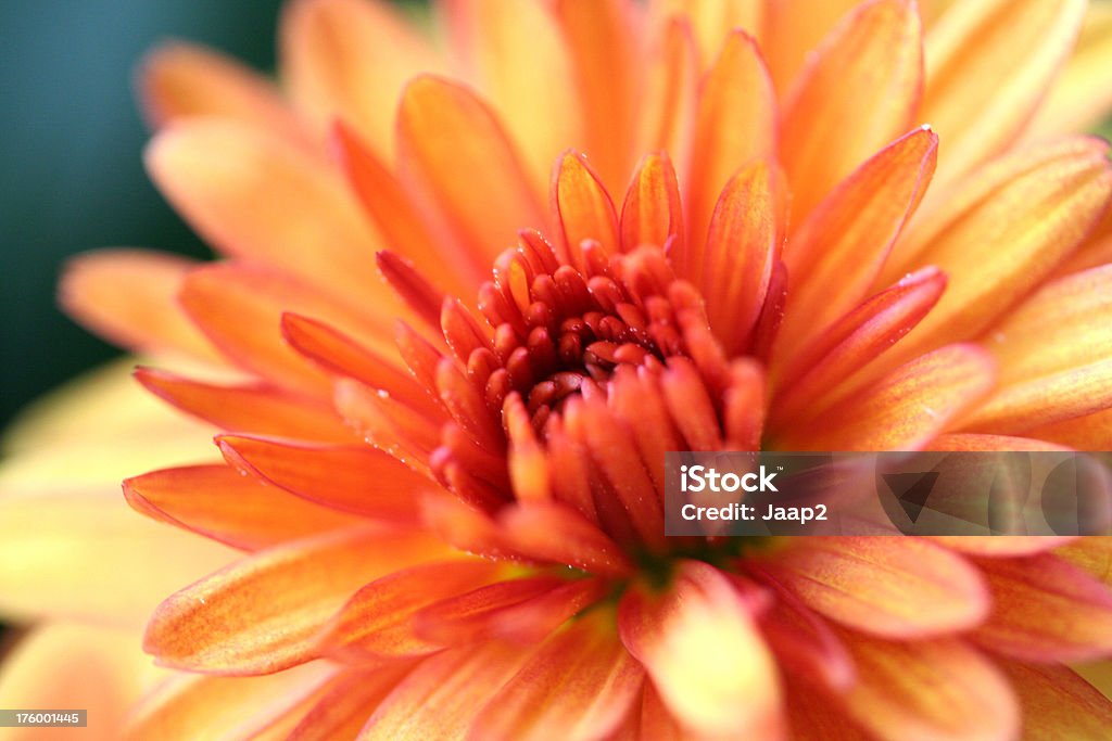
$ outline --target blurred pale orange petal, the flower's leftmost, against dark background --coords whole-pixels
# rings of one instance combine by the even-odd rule
[[[70,260],[58,286],[66,312],[136,352],[178,352],[220,362],[177,306],[190,260],[145,250],[100,250]]]

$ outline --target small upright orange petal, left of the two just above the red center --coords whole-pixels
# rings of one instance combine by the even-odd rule
[[[607,254],[618,252],[618,220],[606,188],[582,154],[565,153],[553,171],[552,198],[559,218],[564,254],[586,268],[583,242],[598,242]]]

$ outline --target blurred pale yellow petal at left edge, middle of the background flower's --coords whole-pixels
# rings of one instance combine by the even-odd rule
[[[0,611],[9,618],[138,627],[167,593],[235,557],[139,517],[115,483],[0,498]]]

